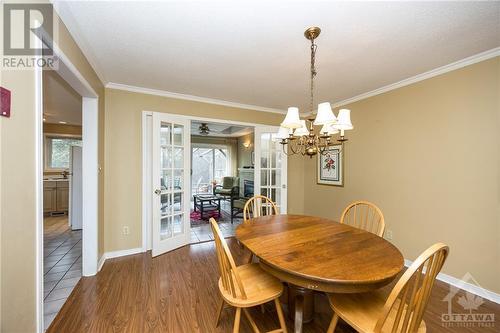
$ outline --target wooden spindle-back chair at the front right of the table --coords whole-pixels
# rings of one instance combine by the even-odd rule
[[[401,276],[387,298],[381,290],[329,294],[334,315],[328,333],[333,333],[339,318],[360,333],[426,332],[422,318],[448,252],[448,246],[442,243],[425,250]]]

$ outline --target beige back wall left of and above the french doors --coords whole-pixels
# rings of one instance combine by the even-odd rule
[[[118,251],[141,244],[141,117],[142,111],[279,124],[282,114],[258,112],[220,105],[171,99],[106,89],[105,120],[105,251]],[[290,189],[295,188],[291,181]],[[299,199],[300,200],[300,199]],[[123,235],[123,226],[130,234]]]

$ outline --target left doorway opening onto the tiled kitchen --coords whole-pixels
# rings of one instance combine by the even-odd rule
[[[82,276],[82,96],[43,72],[44,329]]]

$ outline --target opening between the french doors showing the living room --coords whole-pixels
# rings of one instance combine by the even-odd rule
[[[242,223],[254,195],[254,127],[191,121],[191,244],[213,240],[213,217],[225,237]]]

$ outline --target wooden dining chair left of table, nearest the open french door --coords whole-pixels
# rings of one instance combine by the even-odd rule
[[[233,333],[239,331],[242,310],[250,322],[253,331],[259,332],[255,321],[248,312],[248,308],[274,301],[280,322],[280,329],[273,332],[286,333],[285,317],[283,316],[283,310],[279,301],[279,297],[283,293],[283,284],[274,276],[264,272],[258,264],[236,266],[226,240],[213,218],[210,219],[210,225],[214,233],[220,271],[218,284],[222,296],[215,327],[219,326],[224,305],[228,304],[236,308]]]

